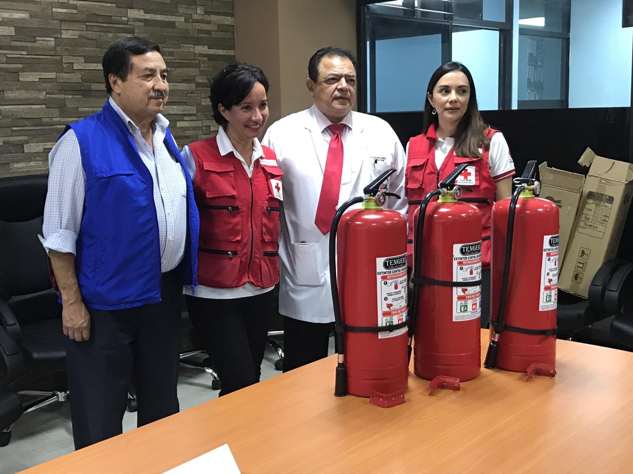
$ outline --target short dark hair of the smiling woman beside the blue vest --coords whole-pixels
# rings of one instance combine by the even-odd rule
[[[260,82],[268,92],[268,79],[257,66],[246,63],[229,63],[211,80],[209,87],[213,119],[227,128],[227,119],[220,113],[218,106],[222,104],[227,109],[244,100],[256,82]]]

